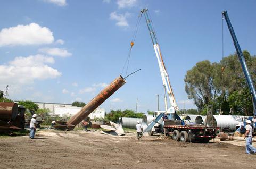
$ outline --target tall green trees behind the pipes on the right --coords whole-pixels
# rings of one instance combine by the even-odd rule
[[[256,56],[243,51],[253,83],[256,81]],[[207,106],[223,114],[253,115],[252,97],[237,54],[222,58],[220,62],[197,62],[185,76],[185,91],[193,99],[200,114]]]

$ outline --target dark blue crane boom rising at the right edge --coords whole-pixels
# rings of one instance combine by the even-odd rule
[[[238,40],[236,38],[233,26],[232,26],[232,24],[231,24],[231,22],[229,20],[228,12],[227,11],[222,11],[222,15],[224,15],[224,17],[225,17],[225,20],[226,20],[227,25],[228,25],[229,32],[230,32],[230,34],[232,36],[232,39],[233,39],[233,42],[234,42],[234,45],[235,45],[235,48],[236,48],[236,52],[237,52],[239,61],[241,63],[241,66],[242,66],[242,69],[243,69],[243,72],[244,72],[244,75],[245,75],[245,79],[246,79],[247,85],[249,86],[249,90],[250,90],[251,95],[252,95],[253,113],[254,113],[254,115],[256,115],[256,111],[255,111],[255,107],[256,107],[256,92],[255,92],[255,88],[253,86],[253,82],[252,82],[252,78],[251,78],[250,72],[249,72],[249,70],[247,68],[247,65],[246,65],[246,62],[245,62],[245,58],[244,58],[243,52],[242,52],[242,50],[240,48],[240,45],[238,43]]]

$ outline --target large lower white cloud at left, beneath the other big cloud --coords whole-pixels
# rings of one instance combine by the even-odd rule
[[[0,65],[0,84],[19,86],[33,83],[34,80],[60,77],[58,70],[47,65],[54,62],[54,58],[44,55],[15,57],[8,64]]]

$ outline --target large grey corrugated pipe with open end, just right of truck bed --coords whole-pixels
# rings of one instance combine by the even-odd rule
[[[240,122],[243,122],[243,118],[241,116],[236,115],[211,115],[205,118],[205,122],[207,122],[207,126],[217,126],[221,129],[229,128],[230,130],[236,130],[236,125]]]

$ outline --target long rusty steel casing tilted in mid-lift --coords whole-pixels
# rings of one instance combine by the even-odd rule
[[[82,107],[77,114],[71,117],[67,122],[68,127],[74,128],[125,83],[126,81],[121,75],[118,78],[115,78],[109,86],[105,87],[97,96],[90,100],[88,104]]]

